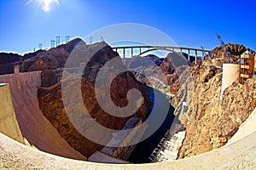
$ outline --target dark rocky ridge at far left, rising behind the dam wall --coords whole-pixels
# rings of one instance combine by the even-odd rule
[[[14,73],[15,65],[20,65],[21,72],[53,70],[64,67],[67,57],[81,41],[81,39],[76,38],[57,48],[51,48],[48,51],[38,50],[23,56],[0,53],[0,75]]]

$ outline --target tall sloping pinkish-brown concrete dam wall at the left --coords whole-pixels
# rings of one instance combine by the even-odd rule
[[[0,82],[9,83],[9,85],[0,87],[2,102],[0,115],[1,117],[12,115],[9,116],[11,121],[7,122],[7,124],[5,123],[6,120],[0,119],[1,125],[4,123],[12,127],[13,130],[11,131],[13,133],[9,132],[6,134],[23,144],[57,156],[86,160],[84,156],[67,144],[66,140],[61,138],[55,127],[51,125],[44,117],[42,111],[40,111],[37,95],[37,87],[41,85],[40,73],[40,71],[34,71],[0,76]],[[10,88],[10,94],[8,88]],[[5,105],[10,109],[4,109]],[[12,105],[15,114],[11,109]],[[17,124],[20,127],[22,138],[20,138]]]

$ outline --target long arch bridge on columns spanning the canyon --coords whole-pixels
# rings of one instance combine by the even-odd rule
[[[200,49],[200,48],[185,48],[185,47],[175,47],[175,46],[122,46],[122,47],[113,47],[113,50],[119,53],[124,59],[128,56],[133,57],[136,55],[143,55],[150,51],[156,50],[165,50],[170,52],[185,53],[188,54],[187,59],[190,60],[190,57],[195,57],[195,64],[197,59],[204,60],[206,54],[208,58],[211,57],[210,50]],[[194,55],[193,55],[194,54]]]

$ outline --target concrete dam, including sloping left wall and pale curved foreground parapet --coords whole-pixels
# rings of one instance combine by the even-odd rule
[[[1,76],[1,168],[20,169],[217,169],[255,167],[256,111],[232,139],[232,143],[206,154],[153,164],[104,164],[85,160],[61,139],[38,110],[39,72]],[[38,79],[37,79],[38,78]],[[37,80],[36,80],[37,79]],[[16,84],[15,84],[16,83]],[[246,133],[244,133],[246,132]]]

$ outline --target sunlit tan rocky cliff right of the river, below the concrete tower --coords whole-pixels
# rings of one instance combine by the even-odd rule
[[[186,127],[178,158],[199,155],[223,146],[255,108],[256,82],[253,79],[248,80],[244,88],[234,82],[226,88],[220,100],[222,70],[219,67],[227,62],[224,53],[230,52],[230,63],[239,63],[240,54],[246,50],[239,44],[214,48],[210,53],[211,59],[206,57],[203,65],[198,63],[186,70],[183,66],[173,65],[177,63],[173,61],[173,54],[169,54],[160,65],[166,78],[172,77],[167,79],[172,94],[176,94],[171,103],[176,108],[175,115]],[[249,51],[255,54],[253,50]],[[183,103],[189,108],[186,109]]]

